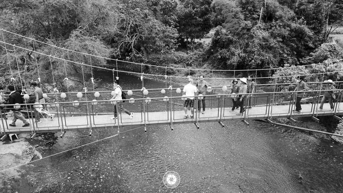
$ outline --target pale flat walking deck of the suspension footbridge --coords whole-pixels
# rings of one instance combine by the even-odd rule
[[[336,103],[336,109],[330,110],[329,104],[324,105],[323,111],[317,111],[314,104],[302,104],[302,113],[294,114],[291,112],[292,105],[260,105],[254,106],[251,109],[246,109],[246,112],[239,114],[239,110],[232,111],[230,107],[227,108],[211,108],[206,109],[205,114],[196,113],[193,119],[183,119],[184,112],[182,110],[175,111],[159,111],[159,112],[145,112],[145,124],[182,124],[182,123],[201,123],[201,122],[216,122],[229,119],[267,119],[280,117],[309,117],[309,116],[327,116],[327,115],[341,115],[343,114],[342,102]],[[294,106],[293,106],[294,108]],[[272,112],[272,113],[271,113]],[[314,113],[313,113],[314,112]],[[23,132],[57,132],[78,129],[103,129],[113,128],[117,129],[119,126],[140,126],[144,125],[144,113],[134,113],[133,119],[125,113],[120,113],[118,119],[112,120],[113,113],[96,114],[90,113],[88,116],[75,114],[74,116],[63,116],[63,113],[58,113],[54,120],[49,118],[41,118],[42,123],[34,123],[34,118],[29,119],[31,127],[21,127],[23,123],[17,120],[16,127],[10,127],[8,124],[11,120],[0,121],[1,133],[23,133]],[[28,121],[29,121],[28,120]],[[2,123],[1,123],[2,122]]]

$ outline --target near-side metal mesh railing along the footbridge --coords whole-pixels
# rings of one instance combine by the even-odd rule
[[[339,92],[340,90],[334,90]],[[318,110],[324,91],[305,91],[302,103],[302,113],[298,115],[315,116],[318,113],[334,115],[343,113],[342,95],[334,103],[334,109],[330,109],[329,104],[325,104],[323,111]],[[240,98],[235,99],[234,95],[207,95],[205,98],[206,110],[202,113],[198,101],[200,96],[194,100],[195,109],[200,109],[194,113],[193,118],[184,118],[185,112],[183,104],[185,98],[181,96],[135,98],[134,101],[78,101],[78,102],[57,102],[37,104],[21,104],[21,112],[26,119],[30,120],[31,126],[22,128],[21,121],[17,120],[16,127],[10,127],[10,110],[13,105],[0,105],[0,130],[1,132],[47,132],[64,131],[68,129],[98,128],[98,127],[120,127],[127,125],[148,125],[160,123],[181,123],[181,122],[203,122],[221,121],[224,119],[268,119],[271,117],[293,116],[295,108],[295,92],[266,92],[246,94],[243,99],[244,112],[240,109],[232,109],[233,103],[240,102]],[[248,108],[249,100],[252,108]],[[115,109],[118,112],[117,119]],[[133,118],[125,113],[125,110],[133,113]],[[51,120],[51,115],[54,119]],[[188,113],[190,114],[190,113]],[[40,116],[42,123],[36,123],[35,117]],[[7,118],[7,119],[6,119]]]

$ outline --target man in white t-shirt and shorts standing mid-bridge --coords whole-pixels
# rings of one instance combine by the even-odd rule
[[[198,89],[196,86],[193,85],[193,79],[188,79],[188,84],[183,87],[183,95],[186,97],[185,102],[183,103],[183,107],[185,110],[184,119],[187,119],[188,116],[188,107],[191,108],[192,115],[190,116],[193,119],[194,115],[194,96],[198,93]]]

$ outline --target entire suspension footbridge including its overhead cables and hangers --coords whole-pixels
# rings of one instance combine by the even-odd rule
[[[157,76],[157,77],[164,77],[166,79],[166,87],[168,80],[171,81],[172,78],[179,79],[179,78],[188,78],[188,77],[181,77],[181,76],[169,76],[167,75],[167,69],[175,69],[175,70],[186,70],[188,71],[188,75],[190,74],[191,70],[195,71],[202,71],[206,73],[211,73],[213,71],[225,71],[228,73],[232,73],[233,76],[236,76],[236,73],[241,72],[248,72],[249,74],[255,74],[254,79],[264,79],[264,80],[275,80],[275,78],[283,78],[289,79],[293,76],[298,76],[300,74],[292,74],[292,76],[284,75],[284,76],[272,76],[272,71],[278,70],[280,68],[267,68],[267,69],[245,69],[245,70],[215,70],[215,69],[194,69],[194,68],[183,68],[183,67],[170,67],[170,66],[158,66],[158,65],[151,65],[151,64],[138,64],[133,62],[127,61],[120,61],[117,59],[110,59],[100,56],[95,56],[87,53],[77,52],[75,50],[68,50],[65,48],[61,48],[52,44],[48,44],[45,42],[37,41],[35,39],[25,37],[20,34],[16,34],[13,32],[8,32],[3,29],[0,29],[2,33],[2,41],[3,48],[6,51],[7,59],[8,59],[8,66],[9,71],[11,72],[10,81],[17,82],[21,84],[22,88],[24,88],[23,80],[25,81],[25,77],[21,77],[22,71],[25,69],[21,69],[20,65],[18,64],[18,58],[16,55],[16,49],[21,49],[25,52],[32,52],[34,53],[34,61],[37,67],[37,80],[39,83],[41,82],[41,78],[39,75],[39,64],[37,63],[36,55],[46,56],[49,59],[50,66],[51,66],[51,75],[52,75],[52,85],[54,93],[47,93],[44,97],[47,99],[48,103],[42,104],[43,108],[30,103],[29,98],[33,96],[24,96],[26,98],[26,103],[21,104],[22,113],[26,116],[28,121],[30,121],[30,127],[21,127],[20,121],[17,121],[17,125],[15,127],[9,126],[10,124],[10,116],[11,116],[11,105],[1,104],[0,107],[2,108],[2,113],[0,114],[0,133],[4,134],[16,134],[16,133],[33,133],[33,137],[35,133],[38,132],[61,132],[61,136],[66,131],[69,130],[79,130],[79,129],[89,129],[90,134],[94,129],[118,129],[120,131],[121,127],[124,126],[143,126],[145,131],[147,130],[148,125],[153,124],[168,124],[170,128],[173,129],[175,124],[194,124],[196,128],[201,128],[202,123],[206,122],[218,122],[222,127],[224,127],[223,121],[227,121],[230,119],[239,119],[242,120],[244,123],[248,124],[249,120],[271,120],[273,118],[289,118],[292,121],[295,121],[293,118],[295,117],[312,117],[313,120],[318,121],[316,117],[318,116],[334,116],[337,119],[340,119],[340,115],[343,114],[343,107],[342,107],[342,96],[337,98],[337,101],[334,104],[334,109],[330,109],[329,104],[324,104],[323,110],[318,110],[318,105],[321,101],[323,96],[324,90],[322,90],[321,86],[323,83],[323,78],[325,74],[338,74],[343,72],[343,69],[339,69],[336,71],[330,72],[318,72],[312,74],[301,74],[301,75],[308,75],[308,76],[316,76],[317,80],[321,82],[312,82],[307,83],[308,87],[310,88],[309,91],[306,91],[305,97],[302,99],[302,112],[301,113],[294,113],[293,109],[295,108],[295,94],[294,92],[289,92],[294,88],[296,83],[291,84],[267,84],[267,85],[255,85],[256,86],[256,93],[247,94],[247,98],[245,99],[244,106],[248,106],[247,102],[248,99],[252,102],[252,108],[246,108],[243,113],[239,113],[239,110],[232,110],[233,101],[231,93],[231,85],[228,86],[220,86],[220,87],[213,87],[212,90],[207,92],[206,94],[206,111],[205,113],[201,113],[200,111],[194,114],[192,119],[184,119],[184,111],[183,111],[183,102],[184,97],[180,96],[180,89],[169,88],[165,89],[147,89],[143,90],[144,88],[144,76]],[[38,52],[35,50],[35,45],[33,44],[33,50],[25,48],[25,44],[18,46],[14,45],[13,43],[8,43],[5,40],[4,32],[8,33],[12,36],[17,36],[20,38],[28,39],[28,41],[34,41],[37,44],[45,44],[54,49],[61,49],[62,52],[72,52],[74,54],[80,54],[89,57],[89,63],[81,63],[75,62],[71,60],[65,59],[65,56],[52,56],[48,54],[44,54],[43,52]],[[13,48],[11,52],[14,53],[12,58],[8,55],[7,47]],[[104,60],[112,60],[116,63],[116,68],[109,69],[103,66],[96,66],[92,64],[92,57],[101,58]],[[16,64],[17,69],[11,68],[11,62]],[[56,88],[56,82],[54,77],[54,66],[51,60],[61,60],[64,63],[64,70],[66,77],[65,79],[68,80],[68,73],[66,69],[66,65],[68,64],[75,64],[80,65],[82,69],[82,76],[83,76],[83,92],[78,93],[59,93],[58,88]],[[303,66],[289,66],[284,67],[286,68],[311,68],[314,65],[319,64],[336,64],[340,63],[343,60],[337,61],[328,61],[318,64],[309,64]],[[141,69],[141,72],[133,72],[133,71],[125,71],[120,70],[118,68],[118,62],[123,64],[132,64],[137,66]],[[143,66],[150,66],[160,68],[165,71],[165,74],[146,74],[143,73]],[[85,83],[85,75],[84,75],[84,67],[90,67],[92,72],[92,86],[93,92],[87,91],[86,83]],[[136,67],[136,68],[137,68]],[[22,67],[23,68],[23,67]],[[94,77],[93,77],[93,68],[99,68],[103,70],[110,70],[113,73],[113,79],[116,76],[118,77],[118,72],[125,72],[129,74],[140,75],[142,81],[142,89],[141,90],[132,90],[130,99],[128,98],[125,102],[124,101],[110,101],[109,99],[112,96],[111,92],[108,91],[94,91]],[[17,71],[17,72],[16,72]],[[257,72],[265,71],[264,74],[267,74],[268,77],[257,77]],[[319,77],[320,76],[320,77]],[[19,81],[18,81],[19,78]],[[30,77],[32,79],[32,77]],[[233,78],[221,78],[221,77],[207,77],[206,79],[221,79],[227,80],[229,82],[232,81]],[[42,80],[44,81],[44,80]],[[45,80],[51,83],[51,80]],[[338,83],[337,90],[335,92],[339,92],[341,88],[341,82],[335,81]],[[171,85],[171,84],[170,84]],[[68,89],[68,84],[67,84]],[[148,92],[147,92],[148,91]],[[1,96],[2,98],[6,99],[6,95]],[[195,98],[195,108],[198,107],[198,100],[201,99],[203,96],[196,96]],[[116,102],[119,102],[120,105],[115,105]],[[118,112],[118,119],[111,119],[114,116],[114,108],[117,108]],[[124,113],[122,108],[133,112],[133,117],[131,119],[130,116]],[[37,114],[37,111],[38,114]],[[42,123],[35,122],[35,116],[44,116]],[[51,116],[53,115],[53,119]]]

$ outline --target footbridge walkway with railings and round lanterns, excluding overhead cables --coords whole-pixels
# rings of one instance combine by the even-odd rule
[[[312,83],[309,87],[317,87],[317,85],[318,83]],[[146,131],[146,126],[153,124],[168,124],[171,129],[175,124],[194,124],[197,129],[200,129],[202,123],[206,122],[218,122],[224,127],[223,121],[231,119],[239,119],[248,124],[249,120],[270,121],[274,118],[294,120],[293,118],[296,117],[312,117],[316,120],[318,116],[334,116],[340,119],[338,116],[343,115],[342,96],[334,103],[333,110],[330,109],[329,104],[324,104],[323,110],[318,110],[323,90],[306,91],[302,100],[302,112],[294,113],[294,92],[280,92],[285,86],[287,85],[256,85],[257,93],[248,94],[252,108],[246,108],[243,113],[239,113],[239,109],[232,110],[232,95],[228,94],[230,87],[224,91],[222,87],[214,87],[206,96],[205,113],[197,111],[192,119],[183,118],[185,98],[178,96],[180,94],[176,91],[177,89],[166,88],[163,89],[164,91],[150,89],[148,93],[150,97],[144,95],[141,90],[132,90],[133,94],[129,96],[131,99],[128,98],[120,105],[109,101],[111,92],[106,91],[99,92],[98,97],[95,97],[95,92],[84,92],[82,97],[78,97],[78,93],[66,93],[63,99],[59,93],[48,94],[47,100],[52,102],[43,105],[49,113],[54,114],[53,120],[42,113],[45,118],[41,118],[42,123],[36,123],[34,109],[39,107],[26,103],[21,105],[22,113],[30,121],[31,126],[21,127],[22,123],[18,120],[16,127],[10,127],[10,113],[7,113],[1,114],[0,129],[2,134],[61,132],[62,136],[66,131],[80,129],[89,129],[90,134],[94,129],[117,129],[119,132],[124,126],[144,126]],[[196,97],[195,108],[198,105],[197,100],[201,97]],[[246,99],[245,102],[247,101]],[[119,106],[133,112],[133,118],[130,119],[130,116],[125,114]],[[2,107],[5,112],[10,110],[9,105],[2,105]],[[118,119],[111,119],[114,116],[115,107],[118,111]]]

